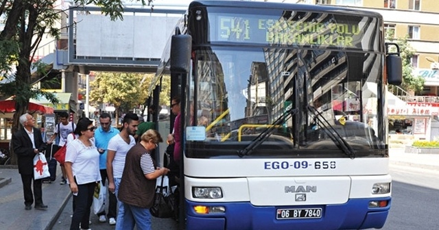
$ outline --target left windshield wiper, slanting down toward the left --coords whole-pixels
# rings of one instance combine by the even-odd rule
[[[254,149],[256,149],[258,146],[260,146],[272,133],[274,132],[274,129],[277,128],[278,125],[280,125],[283,120],[286,120],[289,118],[289,116],[293,116],[298,112],[298,109],[290,108],[289,110],[285,111],[279,118],[274,120],[274,123],[268,127],[268,129],[265,129],[263,132],[259,133],[259,136],[257,136],[256,139],[254,139],[246,148],[238,150],[237,153],[239,157],[244,157],[245,155],[249,155]]]

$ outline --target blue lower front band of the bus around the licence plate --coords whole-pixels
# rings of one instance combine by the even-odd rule
[[[370,201],[388,201],[386,207],[369,208]],[[341,205],[310,205],[259,207],[250,202],[200,203],[186,201],[186,229],[368,229],[381,228],[390,209],[390,197],[379,199],[350,199]],[[224,214],[196,214],[195,205],[223,206]],[[322,218],[276,220],[278,208],[322,207]]]

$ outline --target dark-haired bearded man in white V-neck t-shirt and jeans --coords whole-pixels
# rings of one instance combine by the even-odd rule
[[[134,134],[136,134],[139,125],[139,116],[137,114],[128,113],[123,117],[122,130],[119,134],[112,137],[107,146],[107,177],[108,191],[114,192],[117,197],[117,190],[122,178],[123,167],[125,166],[126,153],[132,146],[136,145]],[[118,214],[123,213],[123,205],[117,202]],[[116,229],[120,221],[116,223]]]

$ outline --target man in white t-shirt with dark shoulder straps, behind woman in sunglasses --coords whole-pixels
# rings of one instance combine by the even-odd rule
[[[64,146],[64,144],[66,144],[67,142],[67,136],[69,136],[69,133],[73,133],[73,131],[75,131],[76,125],[75,123],[73,123],[73,121],[69,121],[69,114],[67,112],[61,112],[59,114],[59,118],[60,118],[60,123],[58,123],[55,126],[55,133],[54,135],[51,136],[50,140],[47,142],[47,144],[52,144],[55,140],[55,138],[58,136],[58,133],[60,133],[60,141],[58,142],[58,146],[56,146],[56,148],[53,148],[52,151],[55,154],[56,151],[58,151],[58,149],[62,146]],[[54,144],[55,146],[55,144]],[[54,147],[52,146],[52,147]],[[62,177],[61,177],[61,183],[62,185],[67,183],[67,175],[66,175],[66,170],[64,168],[64,165],[60,164],[61,166],[61,172],[62,172]]]

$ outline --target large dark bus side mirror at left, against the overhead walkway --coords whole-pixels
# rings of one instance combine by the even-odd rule
[[[171,73],[189,73],[191,69],[192,37],[176,34],[171,38]]]

